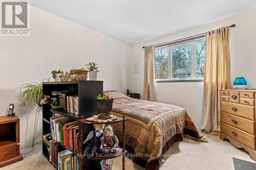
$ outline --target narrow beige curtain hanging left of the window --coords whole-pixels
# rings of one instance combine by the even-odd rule
[[[144,48],[144,100],[156,101],[155,92],[155,45]]]

